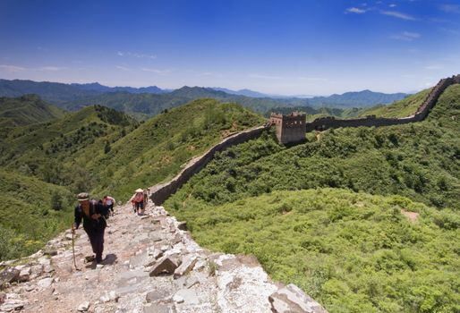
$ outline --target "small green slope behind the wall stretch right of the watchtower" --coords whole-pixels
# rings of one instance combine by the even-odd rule
[[[405,117],[415,114],[423,100],[428,96],[431,89],[424,89],[414,95],[405,97],[403,100],[394,102],[388,106],[376,106],[364,109],[360,116],[376,115],[382,117]]]

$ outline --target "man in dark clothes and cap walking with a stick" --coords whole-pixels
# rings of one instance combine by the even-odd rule
[[[72,233],[79,228],[81,219],[83,229],[88,233],[91,248],[96,254],[96,262],[102,262],[104,251],[104,231],[106,230],[106,208],[97,200],[89,200],[89,194],[81,192],[78,195],[79,205],[75,207],[75,221],[72,225]]]

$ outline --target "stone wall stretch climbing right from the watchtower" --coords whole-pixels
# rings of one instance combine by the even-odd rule
[[[306,123],[305,131],[324,131],[329,128],[338,127],[359,127],[359,126],[389,126],[405,123],[420,122],[430,113],[430,109],[436,105],[439,96],[444,92],[447,87],[453,84],[460,83],[460,74],[439,80],[439,83],[430,91],[430,94],[419,106],[417,112],[411,116],[401,118],[384,118],[367,116],[364,118],[356,119],[336,119],[332,116],[317,118],[311,123]]]

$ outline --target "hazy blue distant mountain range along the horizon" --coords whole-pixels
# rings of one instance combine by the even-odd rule
[[[184,86],[180,89],[107,87],[98,82],[64,84],[33,80],[0,80],[0,97],[21,97],[37,94],[45,101],[65,110],[101,105],[115,108],[140,119],[156,115],[175,106],[182,106],[197,98],[210,97],[222,102],[239,103],[259,113],[276,107],[369,107],[386,105],[406,97],[406,94],[384,94],[363,90],[329,97],[277,97],[250,89],[231,90]]]

